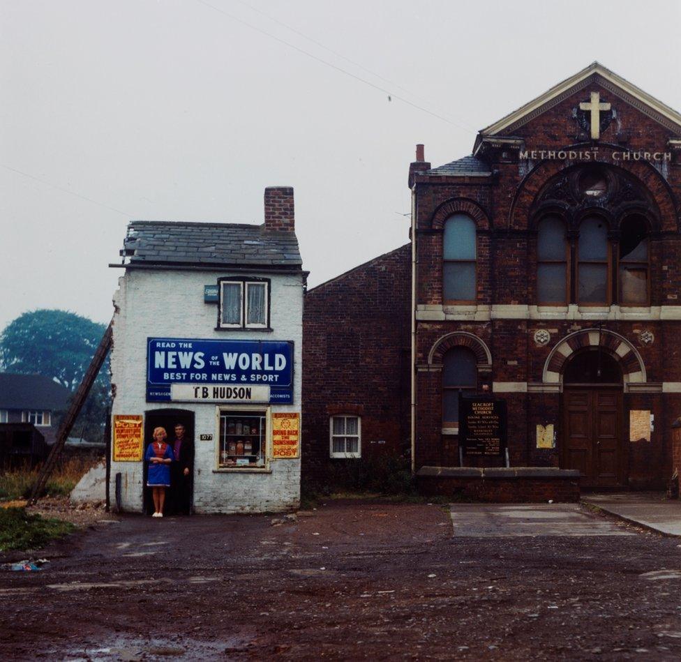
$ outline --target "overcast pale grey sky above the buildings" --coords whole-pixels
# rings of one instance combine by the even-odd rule
[[[417,142],[465,156],[595,59],[681,110],[680,19],[678,1],[0,0],[0,329],[34,308],[106,322],[128,220],[262,223],[265,186],[294,186],[322,283],[406,243]]]

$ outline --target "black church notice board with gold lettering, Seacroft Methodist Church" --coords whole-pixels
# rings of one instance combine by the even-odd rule
[[[461,396],[458,439],[466,455],[502,456],[506,451],[506,400],[489,396]]]

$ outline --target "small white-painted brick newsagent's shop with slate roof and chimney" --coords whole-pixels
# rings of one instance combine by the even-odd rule
[[[125,270],[114,295],[110,472],[124,511],[150,512],[141,458],[154,428],[172,443],[177,423],[195,449],[193,512],[299,505],[306,272],[293,189],[267,188],[264,206],[263,225],[128,225],[123,262],[111,265]]]

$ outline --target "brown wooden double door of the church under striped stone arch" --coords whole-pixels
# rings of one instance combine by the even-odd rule
[[[560,464],[578,469],[585,488],[626,483],[622,439],[622,370],[600,347],[574,355],[563,373]]]

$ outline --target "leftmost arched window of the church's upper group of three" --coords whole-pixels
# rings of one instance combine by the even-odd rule
[[[537,298],[540,304],[567,303],[568,255],[564,220],[558,216],[542,219],[537,234]]]

